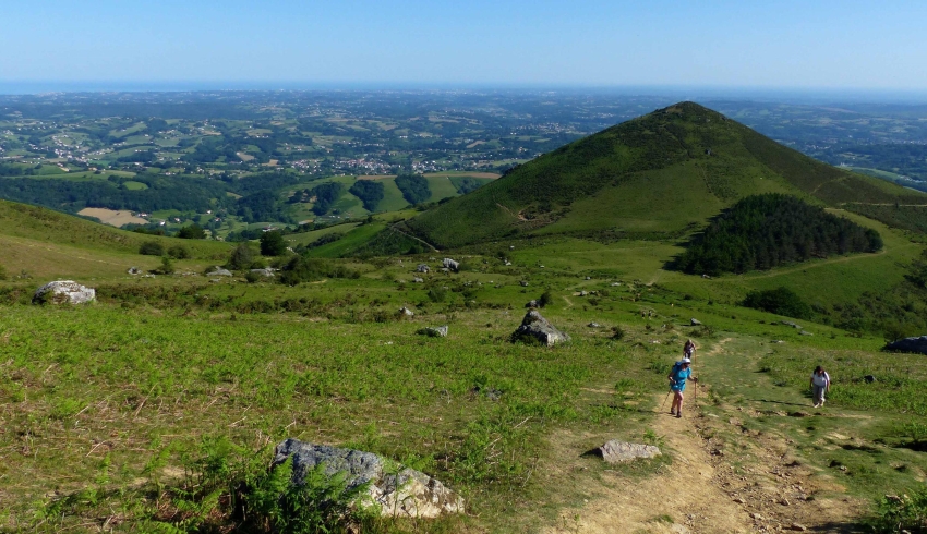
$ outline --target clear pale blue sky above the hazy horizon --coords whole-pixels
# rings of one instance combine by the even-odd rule
[[[0,13],[0,85],[45,90],[927,92],[924,1],[10,0]]]

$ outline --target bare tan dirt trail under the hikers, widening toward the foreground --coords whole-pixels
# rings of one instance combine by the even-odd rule
[[[717,343],[699,360],[723,351],[727,341]],[[842,526],[843,520],[856,510],[844,500],[806,499],[809,494],[838,488],[815,487],[807,478],[810,473],[788,454],[784,440],[745,432],[737,446],[749,450],[750,458],[738,453],[727,459],[725,444],[715,436],[722,427],[726,432],[731,425],[737,428],[739,421],[703,416],[693,405],[695,390],[687,393],[689,405],[683,418],[671,416],[667,404],[650,426],[663,437],[662,449],[672,456],[671,465],[642,480],[606,472],[582,488],[591,495],[582,508],[565,511],[559,524],[542,532],[754,533],[788,531],[793,525],[814,532],[848,532]],[[700,402],[707,401],[705,387],[699,387],[698,393]],[[658,405],[664,398],[659,396]],[[588,438],[564,435],[551,442],[558,458],[569,458]],[[745,465],[735,468],[732,462]],[[570,468],[563,469],[568,476]],[[568,513],[573,513],[569,520]]]

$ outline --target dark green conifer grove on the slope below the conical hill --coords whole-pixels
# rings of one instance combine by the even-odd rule
[[[872,229],[794,196],[767,194],[748,196],[712,219],[676,266],[718,276],[881,248],[882,239]]]

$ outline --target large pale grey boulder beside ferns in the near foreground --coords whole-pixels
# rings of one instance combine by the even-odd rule
[[[277,446],[274,464],[288,458],[292,484],[302,484],[306,471],[318,465],[326,476],[345,473],[349,487],[370,484],[359,505],[377,505],[383,517],[437,518],[465,511],[464,499],[440,481],[372,452],[289,438]]]

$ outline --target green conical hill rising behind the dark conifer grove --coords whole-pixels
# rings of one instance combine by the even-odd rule
[[[671,236],[761,193],[828,206],[927,202],[681,102],[541,156],[409,226],[440,247],[526,234]]]

